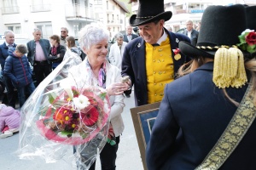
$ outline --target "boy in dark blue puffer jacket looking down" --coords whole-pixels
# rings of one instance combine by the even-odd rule
[[[21,108],[26,101],[26,95],[32,94],[35,89],[32,81],[32,70],[25,55],[27,48],[20,44],[16,48],[9,48],[8,53],[3,74],[9,77],[17,88]]]

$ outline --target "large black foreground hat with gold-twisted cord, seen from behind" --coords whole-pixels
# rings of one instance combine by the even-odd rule
[[[232,47],[239,43],[238,36],[246,28],[243,5],[210,6],[202,16],[196,46],[188,42],[179,42],[179,48],[189,57],[202,56],[213,59],[218,48]]]

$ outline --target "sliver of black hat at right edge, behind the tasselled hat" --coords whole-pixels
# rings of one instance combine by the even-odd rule
[[[256,31],[256,6],[247,6],[247,28]]]

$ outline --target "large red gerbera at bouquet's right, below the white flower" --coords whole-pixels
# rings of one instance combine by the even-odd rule
[[[84,122],[84,124],[86,126],[92,126],[94,125],[98,118],[99,118],[99,112],[96,109],[96,107],[91,107],[89,111],[87,111],[86,113],[81,113],[82,116],[82,122]]]

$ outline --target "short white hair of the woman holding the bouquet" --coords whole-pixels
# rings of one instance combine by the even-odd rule
[[[81,48],[90,49],[92,45],[95,45],[102,40],[109,38],[109,31],[101,23],[91,23],[90,25],[84,26],[79,31],[79,46]]]

